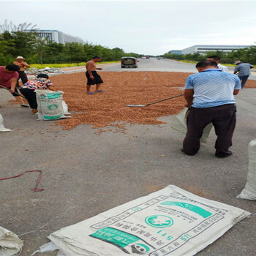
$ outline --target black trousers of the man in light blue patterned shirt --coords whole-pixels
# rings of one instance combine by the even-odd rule
[[[236,105],[234,104],[213,108],[190,108],[187,116],[187,135],[183,142],[183,150],[186,154],[192,156],[197,154],[203,129],[210,123],[214,125],[217,135],[216,155],[228,154],[236,127]]]

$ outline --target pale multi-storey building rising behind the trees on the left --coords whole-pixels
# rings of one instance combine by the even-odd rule
[[[31,31],[31,30],[26,30]],[[58,42],[61,44],[65,44],[66,42],[80,42],[81,44],[84,44],[83,39],[80,37],[74,37],[70,34],[65,34],[59,30],[36,30],[37,34],[39,34],[39,37],[42,38],[48,38],[52,42]]]

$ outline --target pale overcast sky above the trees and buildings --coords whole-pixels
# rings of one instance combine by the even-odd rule
[[[192,45],[252,45],[256,1],[1,1],[0,23],[34,23],[109,48],[159,55]]]

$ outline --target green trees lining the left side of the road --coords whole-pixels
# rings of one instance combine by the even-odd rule
[[[35,31],[2,30],[0,34],[1,66],[12,63],[17,56],[23,56],[31,64],[79,64],[97,55],[102,56],[103,61],[118,61],[123,56],[143,56],[138,53],[125,53],[121,48],[110,49],[90,42],[66,42],[63,45],[43,39]]]

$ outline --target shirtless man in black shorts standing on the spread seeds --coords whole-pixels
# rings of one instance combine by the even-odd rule
[[[91,86],[96,84],[96,89],[94,92],[103,92],[99,90],[99,87],[102,85],[103,80],[100,75],[96,72],[96,70],[102,70],[100,67],[96,67],[96,62],[100,62],[102,60],[101,56],[94,56],[94,59],[88,61],[86,63],[86,78],[87,78],[87,87],[86,94],[94,94],[90,92]]]

